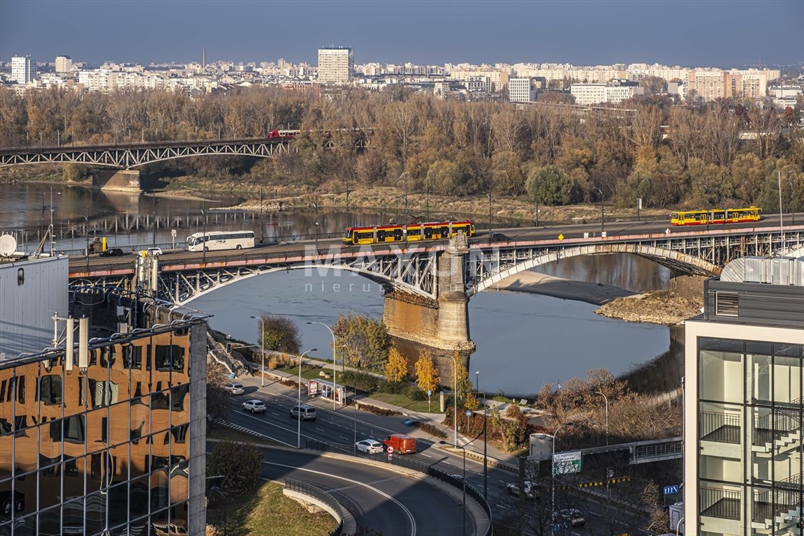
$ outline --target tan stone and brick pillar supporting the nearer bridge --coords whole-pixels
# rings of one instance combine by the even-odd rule
[[[474,350],[469,337],[469,297],[466,296],[466,235],[449,240],[437,260],[437,300],[393,290],[385,293],[383,320],[392,337],[440,350]]]

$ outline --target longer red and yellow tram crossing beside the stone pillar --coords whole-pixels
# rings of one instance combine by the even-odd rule
[[[417,240],[438,240],[452,238],[458,233],[474,236],[474,223],[469,220],[461,222],[427,222],[377,225],[375,227],[347,227],[343,235],[343,243],[387,243],[414,242]]]

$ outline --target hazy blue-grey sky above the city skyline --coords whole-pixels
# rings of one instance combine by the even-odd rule
[[[802,0],[0,0],[0,61],[804,62]]]

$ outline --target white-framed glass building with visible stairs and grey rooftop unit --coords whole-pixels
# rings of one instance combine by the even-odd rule
[[[802,534],[804,257],[732,260],[685,337],[682,534]]]

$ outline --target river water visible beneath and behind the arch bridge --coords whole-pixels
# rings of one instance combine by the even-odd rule
[[[84,235],[74,237],[70,229],[88,223],[93,235],[107,236],[110,246],[128,244],[170,243],[170,229],[163,228],[154,237],[150,231],[118,231],[113,234],[102,218],[121,215],[156,214],[178,219],[185,225],[194,223],[199,211],[212,206],[210,202],[162,199],[157,203],[146,196],[102,194],[76,188],[43,185],[0,185],[0,233],[27,233],[27,250],[32,251],[36,237],[49,223],[51,205],[54,207],[55,227],[58,230],[55,248],[81,248]],[[236,203],[224,199],[221,205]],[[374,215],[361,212],[350,216],[351,221],[371,224],[387,221],[395,214]],[[280,215],[266,214],[266,236],[271,232],[309,234],[316,221],[323,233],[343,230],[343,212],[283,211]],[[207,230],[217,228],[251,228],[259,232],[260,219],[233,222],[216,215],[209,220]],[[197,223],[197,221],[195,222]],[[187,226],[189,227],[189,226]],[[178,239],[199,228],[178,230]],[[60,238],[59,238],[60,237]],[[181,247],[182,244],[176,244]],[[542,272],[575,280],[614,284],[634,292],[667,287],[668,273],[650,261],[635,256],[577,257],[562,260],[559,266],[542,267]],[[350,272],[291,270],[255,276],[219,288],[188,304],[214,315],[213,329],[229,333],[233,338],[255,343],[259,322],[250,317],[261,313],[283,315],[296,321],[302,339],[302,350],[318,348],[322,358],[330,356],[331,336],[322,325],[334,325],[338,315],[361,313],[372,317],[382,315],[382,290],[378,284]],[[615,375],[636,370],[667,352],[671,346],[670,330],[663,325],[647,325],[611,320],[597,316],[596,305],[581,301],[562,300],[533,293],[485,291],[470,299],[470,335],[477,350],[470,356],[470,378],[478,379],[479,388],[486,392],[506,392],[521,395],[537,393],[544,383],[563,383],[573,376],[585,377],[589,369],[608,369]],[[674,365],[670,365],[674,366]],[[655,369],[654,369],[655,370]],[[480,374],[475,376],[474,372]],[[673,374],[680,374],[673,370]],[[665,372],[654,371],[655,375]],[[650,385],[650,378],[646,382]],[[667,387],[667,386],[665,386]],[[669,386],[675,387],[675,386]]]

